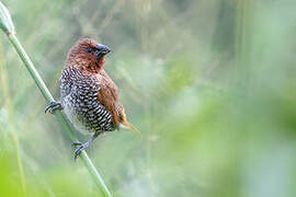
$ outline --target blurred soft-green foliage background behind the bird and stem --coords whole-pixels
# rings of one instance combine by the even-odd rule
[[[56,99],[77,39],[113,50],[105,70],[143,132],[87,150],[114,196],[296,196],[295,0],[3,3]],[[0,79],[0,196],[100,196],[4,34]]]

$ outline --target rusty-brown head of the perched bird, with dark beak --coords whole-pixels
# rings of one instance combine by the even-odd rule
[[[66,66],[76,67],[81,71],[100,72],[105,63],[105,55],[111,50],[91,38],[82,38],[70,48]]]

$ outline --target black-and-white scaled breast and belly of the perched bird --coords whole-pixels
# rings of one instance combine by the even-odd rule
[[[100,84],[94,74],[66,67],[60,78],[60,96],[64,112],[80,131],[104,132],[116,127],[112,114],[99,103]]]

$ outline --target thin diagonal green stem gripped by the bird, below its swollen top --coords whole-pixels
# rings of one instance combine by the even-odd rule
[[[26,70],[30,72],[31,77],[34,79],[35,83],[39,88],[42,95],[45,97],[45,100],[48,103],[55,101],[53,95],[50,94],[49,90],[47,89],[47,86],[43,82],[37,70],[35,69],[33,62],[31,61],[31,59],[26,55],[24,48],[22,47],[22,45],[19,42],[15,34],[9,33],[7,35],[9,37],[9,40],[11,42],[11,44],[14,46],[16,53],[19,54],[19,56],[23,60]],[[68,120],[66,119],[66,117],[64,116],[64,114],[61,114],[59,111],[56,111],[55,115],[58,118],[58,120],[60,121],[60,124],[62,125],[62,127],[65,128],[65,130],[67,130],[70,139],[73,141],[77,141],[77,138],[75,137],[73,131],[71,130],[71,127],[70,127]],[[112,195],[111,195],[110,190],[107,189],[104,181],[102,179],[101,175],[99,174],[99,172],[94,167],[94,165],[93,165],[92,161],[90,160],[90,158],[88,157],[87,152],[81,151],[80,158],[81,158],[82,162],[84,163],[84,165],[87,166],[89,173],[91,174],[91,176],[92,176],[93,181],[95,182],[98,188],[100,189],[101,194],[103,196],[111,197]]]

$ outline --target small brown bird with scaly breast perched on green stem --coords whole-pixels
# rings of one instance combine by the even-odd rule
[[[140,136],[128,123],[116,84],[104,70],[111,49],[92,38],[81,38],[69,49],[60,77],[60,101],[50,102],[45,113],[64,111],[75,128],[91,134],[87,142],[72,142],[75,159],[106,131],[127,128]]]

